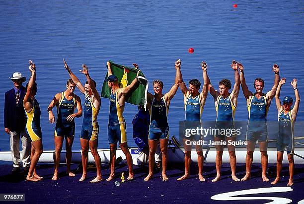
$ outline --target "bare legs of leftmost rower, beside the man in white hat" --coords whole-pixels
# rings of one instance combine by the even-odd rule
[[[32,146],[34,147],[34,154],[31,157],[31,165],[30,165],[30,168],[29,168],[26,180],[27,181],[40,181],[41,179],[36,178],[34,176],[34,172],[36,174],[35,168],[36,168],[36,165],[37,165],[37,163],[39,161],[39,157],[40,157],[40,155],[43,152],[42,140],[39,139],[39,140],[33,141],[32,142]]]

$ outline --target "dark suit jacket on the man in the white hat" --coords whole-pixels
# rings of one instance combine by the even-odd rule
[[[4,102],[4,128],[10,131],[25,131],[26,116],[23,108],[23,99],[26,94],[25,87],[20,88],[20,99],[16,104],[16,94],[14,88],[5,92]]]

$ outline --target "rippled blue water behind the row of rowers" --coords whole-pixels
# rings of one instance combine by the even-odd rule
[[[233,8],[232,4],[238,7]],[[37,99],[42,109],[41,126],[44,149],[54,149],[54,125],[49,124],[47,106],[57,92],[65,90],[68,74],[62,59],[78,73],[87,64],[101,89],[106,61],[132,66],[137,63],[149,80],[164,81],[164,92],[174,82],[174,61],[182,60],[184,80],[202,80],[200,62],[208,63],[211,82],[217,86],[227,77],[233,81],[231,60],[243,63],[248,87],[256,77],[265,80],[264,90],[273,85],[274,63],[287,78],[281,96],[293,95],[289,85],[299,79],[300,94],[304,91],[304,1],[289,0],[104,0],[81,2],[1,1],[0,22],[0,126],[3,127],[4,92],[12,88],[9,76],[20,71],[29,77],[28,60],[37,66]],[[188,48],[194,53],[189,54]],[[152,88],[150,87],[152,92]],[[76,90],[76,94],[80,92]],[[84,97],[81,96],[82,101]],[[245,99],[239,94],[236,120],[247,120]],[[132,118],[137,107],[127,105],[125,119],[129,145],[132,139]],[[304,119],[300,106],[298,120]],[[102,99],[98,122],[101,129],[99,148],[107,148],[109,102]],[[184,119],[180,91],[173,98],[169,111],[170,135],[178,134],[178,122]],[[203,120],[214,120],[213,98],[209,95]],[[277,120],[273,101],[268,120]],[[73,149],[79,149],[82,118],[76,119]],[[9,139],[0,134],[0,149],[9,150]]]

